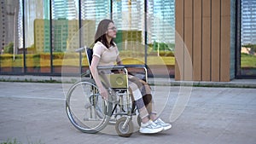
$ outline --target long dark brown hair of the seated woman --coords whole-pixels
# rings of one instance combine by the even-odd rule
[[[113,23],[113,20],[108,20],[108,19],[104,19],[102,20],[96,30],[96,34],[95,34],[95,42],[102,42],[107,48],[108,48],[108,41],[106,38],[106,32],[108,31],[108,25],[109,23]],[[110,42],[111,45],[113,44],[113,39]]]

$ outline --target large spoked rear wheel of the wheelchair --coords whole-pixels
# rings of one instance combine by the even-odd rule
[[[66,97],[67,117],[75,128],[85,133],[104,129],[112,112],[112,103],[102,99],[95,84],[73,84]]]

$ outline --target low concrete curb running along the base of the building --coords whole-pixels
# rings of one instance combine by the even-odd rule
[[[50,77],[50,76],[13,76],[0,75],[0,82],[27,82],[27,83],[74,83],[79,77]],[[193,87],[230,87],[256,89],[256,79],[233,79],[230,82],[199,82],[175,81],[174,78],[148,78],[148,84],[160,86],[193,86]]]

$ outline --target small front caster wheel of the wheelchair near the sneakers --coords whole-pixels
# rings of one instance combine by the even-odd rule
[[[115,124],[115,130],[121,137],[130,137],[133,133],[133,123],[129,120],[128,124],[125,124],[127,118],[119,118]]]

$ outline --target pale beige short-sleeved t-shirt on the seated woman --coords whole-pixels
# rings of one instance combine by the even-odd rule
[[[93,47],[93,55],[100,58],[98,66],[113,66],[116,64],[119,50],[116,45],[107,48],[101,42],[97,42]]]

